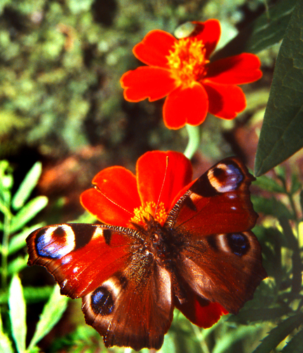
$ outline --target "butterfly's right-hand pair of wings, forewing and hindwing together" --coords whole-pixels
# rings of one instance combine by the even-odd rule
[[[166,227],[183,238],[177,272],[198,296],[237,313],[267,274],[250,231],[257,219],[250,202],[253,177],[238,158],[203,174],[177,201]]]

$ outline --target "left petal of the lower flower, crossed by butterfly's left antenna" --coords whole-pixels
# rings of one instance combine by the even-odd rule
[[[140,207],[135,175],[123,167],[109,167],[93,179],[96,188],[84,191],[81,204],[103,223],[113,226],[129,225],[133,210]]]

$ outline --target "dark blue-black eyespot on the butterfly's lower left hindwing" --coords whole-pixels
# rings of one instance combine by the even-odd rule
[[[112,293],[105,287],[100,286],[91,295],[91,307],[97,315],[107,316],[114,310],[114,299]]]

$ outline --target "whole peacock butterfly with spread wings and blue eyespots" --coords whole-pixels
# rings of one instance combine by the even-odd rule
[[[149,214],[130,227],[39,228],[27,237],[28,265],[46,267],[62,294],[82,298],[86,322],[106,347],[160,349],[174,307],[211,326],[201,324],[201,312],[238,313],[267,277],[250,230],[253,180],[240,159],[226,158],[184,191],[163,223]]]

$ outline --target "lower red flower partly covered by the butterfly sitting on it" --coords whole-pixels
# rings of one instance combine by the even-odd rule
[[[109,225],[135,228],[132,223],[135,222],[144,227],[152,214],[163,226],[170,209],[192,184],[191,177],[191,163],[182,153],[148,152],[137,160],[136,175],[123,167],[109,167],[99,172],[93,179],[97,188],[84,191],[81,204]],[[222,314],[227,314],[220,304],[198,297],[189,288],[187,294],[186,303],[180,304],[177,298],[174,303],[194,324],[208,328]]]

